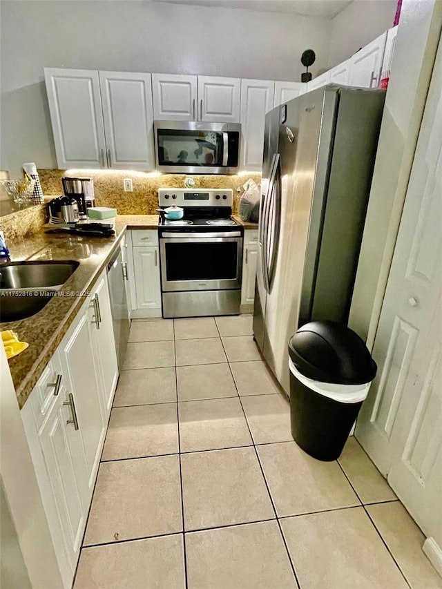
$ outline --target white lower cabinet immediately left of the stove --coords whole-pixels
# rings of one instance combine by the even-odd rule
[[[128,274],[132,293],[131,317],[161,317],[158,232],[154,229],[131,231],[131,243],[132,252],[128,253]]]

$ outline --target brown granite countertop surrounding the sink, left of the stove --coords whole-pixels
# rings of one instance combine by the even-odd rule
[[[43,230],[21,242],[10,243],[12,261],[76,260],[79,267],[61,287],[60,296],[32,317],[0,324],[0,330],[16,331],[29,347],[9,360],[19,407],[23,407],[48,361],[68,331],[88,292],[106,267],[126,229],[157,229],[158,215],[118,215],[113,238],[75,233],[45,233]],[[65,295],[65,296],[63,296]]]

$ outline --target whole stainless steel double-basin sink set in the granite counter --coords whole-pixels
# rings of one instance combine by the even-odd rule
[[[0,323],[26,319],[43,309],[79,262],[10,262],[0,266]]]

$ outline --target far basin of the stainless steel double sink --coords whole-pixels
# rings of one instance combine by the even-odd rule
[[[10,262],[0,267],[0,289],[59,287],[79,262]]]

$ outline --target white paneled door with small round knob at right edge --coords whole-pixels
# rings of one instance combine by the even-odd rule
[[[427,97],[356,437],[442,547],[442,48]],[[442,552],[441,552],[442,554]]]

